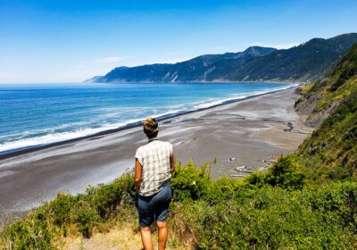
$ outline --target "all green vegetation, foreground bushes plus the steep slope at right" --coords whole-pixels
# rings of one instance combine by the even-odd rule
[[[356,70],[357,45],[324,79],[303,87],[296,107],[311,104],[311,117],[330,115],[266,173],[212,180],[214,162],[178,166],[171,181],[169,247],[357,249]],[[114,226],[138,234],[135,200],[132,175],[88,187],[86,194],[59,194],[3,226],[0,246],[63,248],[66,238],[89,238]]]

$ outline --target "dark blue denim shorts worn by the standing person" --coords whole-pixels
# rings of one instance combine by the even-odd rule
[[[137,196],[140,227],[150,227],[154,221],[167,221],[172,196],[169,182],[153,196]]]

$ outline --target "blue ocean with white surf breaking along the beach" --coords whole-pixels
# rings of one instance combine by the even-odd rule
[[[172,117],[293,86],[267,82],[0,85],[0,154],[125,128],[146,116]]]

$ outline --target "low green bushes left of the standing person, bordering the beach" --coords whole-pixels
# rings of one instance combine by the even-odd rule
[[[54,200],[0,230],[4,249],[52,249],[55,237],[66,237],[71,225],[83,237],[90,237],[95,226],[117,214],[120,204],[133,204],[134,178],[123,175],[109,185],[88,187],[86,194],[58,193]]]

